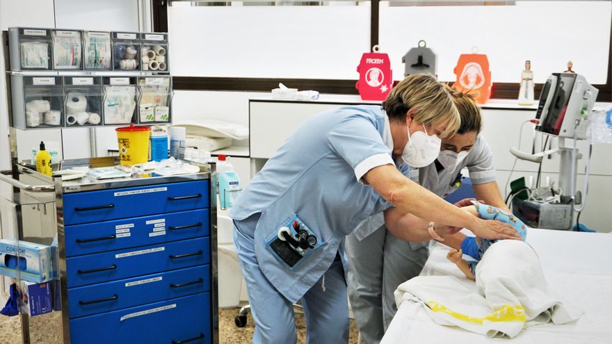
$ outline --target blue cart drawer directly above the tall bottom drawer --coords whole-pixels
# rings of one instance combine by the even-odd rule
[[[210,290],[210,265],[68,289],[70,318],[115,311]]]

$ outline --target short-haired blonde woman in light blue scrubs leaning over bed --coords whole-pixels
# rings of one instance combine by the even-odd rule
[[[296,343],[298,300],[308,343],[346,343],[344,236],[392,205],[434,222],[440,235],[465,227],[482,238],[520,239],[508,224],[462,211],[398,170],[402,162],[433,162],[440,137],[459,125],[448,87],[415,74],[382,107],[329,110],[296,129],[230,211],[253,343]]]

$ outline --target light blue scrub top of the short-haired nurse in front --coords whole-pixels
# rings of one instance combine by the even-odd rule
[[[362,172],[355,172],[373,156],[387,154],[387,161],[393,161],[392,150],[383,142],[385,116],[380,106],[348,106],[310,117],[268,160],[230,211],[234,220],[261,213],[253,233],[259,268],[291,302],[328,270],[344,236],[391,206],[357,179]],[[293,215],[321,246],[290,268],[268,242]]]

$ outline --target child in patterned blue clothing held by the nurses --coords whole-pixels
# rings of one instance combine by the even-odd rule
[[[506,211],[502,211],[494,206],[480,204],[476,201],[472,201],[472,204],[474,204],[474,206],[467,206],[463,209],[469,211],[470,213],[474,213],[474,215],[478,215],[480,218],[485,220],[499,220],[501,222],[511,224],[520,234],[521,238],[525,240],[527,236],[527,227],[515,215],[506,213]],[[459,270],[461,270],[466,277],[476,280],[476,265],[478,265],[478,262],[482,259],[483,254],[485,254],[487,249],[496,241],[497,240],[488,240],[479,237],[476,237],[476,240],[466,238],[465,244],[467,244],[467,246],[462,245],[462,248],[469,254],[469,256],[476,259],[476,261],[466,261],[463,259],[462,249],[451,249],[449,254],[446,255],[446,259],[449,259],[449,261],[455,263],[455,265],[457,265]]]

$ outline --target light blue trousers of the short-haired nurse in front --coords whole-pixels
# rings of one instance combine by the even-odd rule
[[[259,214],[234,220],[234,245],[255,320],[253,343],[296,343],[293,306],[259,269],[254,240],[258,220]],[[346,280],[339,255],[301,301],[306,318],[306,343],[348,343]]]

